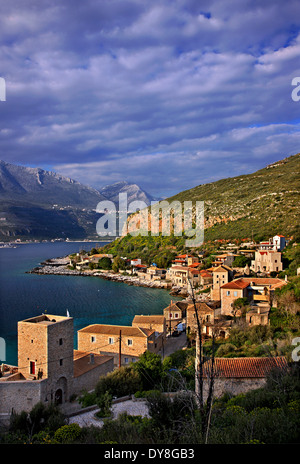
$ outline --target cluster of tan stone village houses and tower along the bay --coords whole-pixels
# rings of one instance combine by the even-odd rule
[[[244,244],[245,245],[245,244]],[[2,365],[0,413],[29,411],[38,401],[64,403],[83,389],[94,388],[101,375],[136,362],[145,351],[162,354],[168,337],[182,331],[195,334],[197,315],[202,336],[226,338],[236,317],[241,316],[240,300],[247,305],[246,324],[269,324],[274,292],[286,285],[274,276],[282,271],[281,253],[285,237],[246,244],[243,249],[216,254],[203,269],[203,255],[182,254],[168,269],[155,263],[146,266],[131,259],[132,272],[141,279],[165,281],[175,298],[160,315],[136,315],[131,326],[92,324],[77,332],[73,349],[73,319],[42,314],[18,323],[18,366]],[[239,255],[251,265],[234,267]],[[82,269],[112,255],[94,254],[77,260]],[[179,301],[177,296],[184,299]]]

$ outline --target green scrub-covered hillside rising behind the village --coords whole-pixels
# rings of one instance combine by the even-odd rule
[[[185,190],[171,198],[204,201],[207,249],[210,241],[254,239],[260,241],[276,234],[300,240],[300,154],[290,156],[252,174],[221,179]],[[131,237],[115,240],[106,248],[115,255],[139,254],[150,262],[159,257],[163,264],[185,250],[183,237]]]

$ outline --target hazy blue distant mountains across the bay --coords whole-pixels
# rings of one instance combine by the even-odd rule
[[[119,192],[126,192],[128,201],[153,200],[136,184],[118,182],[98,191],[55,172],[0,161],[0,240],[97,240],[96,206],[117,202]]]

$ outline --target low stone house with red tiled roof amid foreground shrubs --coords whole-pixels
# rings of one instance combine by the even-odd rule
[[[211,372],[211,360],[204,363],[205,379]],[[261,388],[266,383],[267,376],[274,369],[283,372],[288,368],[284,356],[259,358],[215,358],[214,360],[214,396],[222,396],[225,392],[232,395],[246,393],[249,390]],[[204,388],[207,391],[207,382]]]

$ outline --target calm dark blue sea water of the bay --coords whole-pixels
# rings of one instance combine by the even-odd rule
[[[64,316],[68,310],[74,318],[76,348],[77,330],[82,327],[94,323],[131,325],[136,314],[162,314],[174,299],[166,290],[99,277],[26,274],[45,259],[89,251],[93,246],[95,243],[54,242],[0,249],[0,337],[5,340],[8,364],[17,365],[20,320],[42,312]]]

